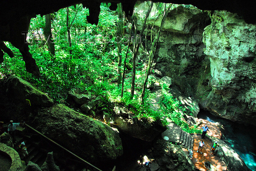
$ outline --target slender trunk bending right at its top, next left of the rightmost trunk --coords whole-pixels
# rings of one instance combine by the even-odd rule
[[[135,37],[135,44],[134,44],[134,46],[133,46],[133,54],[132,54],[132,82],[131,82],[132,85],[131,85],[131,98],[133,98],[133,96],[134,96],[135,74],[136,74],[136,65],[135,65],[135,61],[136,61],[137,54],[138,54],[138,50],[139,50],[139,47],[140,47],[140,42],[139,42],[138,39],[141,38],[141,36],[142,36],[142,34],[143,34],[143,32],[144,32],[144,30],[145,30],[145,28],[146,28],[147,18],[148,18],[149,14],[150,14],[150,11],[151,11],[152,7],[153,7],[153,2],[152,2],[152,1],[150,1],[150,2],[151,2],[151,4],[150,4],[150,7],[149,7],[149,9],[148,9],[148,11],[147,11],[146,17],[145,17],[145,19],[144,19],[144,24],[143,24],[143,26],[142,26],[142,29],[140,30],[139,37],[137,38],[137,35],[135,35],[135,36],[136,36],[136,37]],[[134,26],[135,26],[135,25],[136,25],[136,23],[135,23],[135,21],[134,21]],[[136,27],[135,29],[137,29],[137,27]]]

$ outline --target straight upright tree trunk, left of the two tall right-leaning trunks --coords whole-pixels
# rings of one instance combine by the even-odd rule
[[[118,27],[117,27],[117,50],[118,50],[118,65],[117,65],[117,84],[121,84],[122,74],[121,74],[121,64],[122,64],[122,49],[121,49],[121,37],[122,37],[122,27],[123,27],[123,12],[121,3],[117,4],[117,12],[119,17]],[[120,36],[118,40],[118,36]],[[118,42],[119,41],[119,42]]]

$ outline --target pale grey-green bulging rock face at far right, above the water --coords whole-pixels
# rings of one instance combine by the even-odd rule
[[[212,90],[200,104],[217,116],[256,125],[256,25],[227,11],[215,11],[211,19],[203,42]]]

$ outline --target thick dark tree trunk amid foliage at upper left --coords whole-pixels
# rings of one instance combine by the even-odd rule
[[[46,40],[46,44],[48,50],[52,56],[55,55],[54,42],[52,40],[52,25],[51,25],[51,14],[45,15],[45,28],[44,28],[44,36]]]

